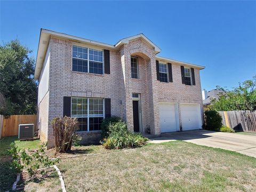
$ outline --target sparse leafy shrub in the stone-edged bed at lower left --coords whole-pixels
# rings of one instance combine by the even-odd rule
[[[18,149],[14,142],[11,143],[11,148],[8,150],[12,155],[12,167],[17,171],[26,169],[30,175],[34,175],[39,168],[49,167],[59,162],[59,159],[50,159],[45,155],[46,143],[43,143],[39,149],[28,153],[25,149]],[[42,172],[43,173],[43,172]]]

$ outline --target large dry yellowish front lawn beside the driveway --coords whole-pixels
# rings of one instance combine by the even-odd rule
[[[61,159],[67,191],[253,191],[256,158],[171,141]]]

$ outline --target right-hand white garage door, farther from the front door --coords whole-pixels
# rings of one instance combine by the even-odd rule
[[[201,129],[199,104],[180,104],[182,131]]]

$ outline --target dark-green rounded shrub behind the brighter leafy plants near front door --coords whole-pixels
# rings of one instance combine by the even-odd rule
[[[103,119],[100,126],[101,137],[108,138],[110,132],[112,132],[112,130],[114,129],[117,129],[117,127],[113,127],[113,125],[117,122],[122,122],[122,119],[120,117],[109,117],[109,118]],[[126,129],[126,125],[125,125],[125,129]]]

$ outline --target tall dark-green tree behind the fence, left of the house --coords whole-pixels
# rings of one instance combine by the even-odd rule
[[[0,46],[0,92],[5,98],[2,115],[36,114],[37,84],[31,52],[18,39]]]

